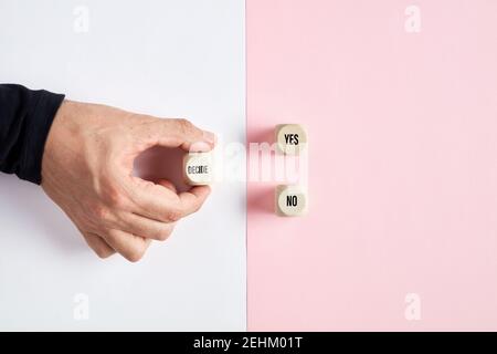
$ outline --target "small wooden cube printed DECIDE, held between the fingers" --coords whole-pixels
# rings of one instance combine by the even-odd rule
[[[190,186],[211,185],[214,181],[213,155],[211,153],[184,155],[183,177]]]

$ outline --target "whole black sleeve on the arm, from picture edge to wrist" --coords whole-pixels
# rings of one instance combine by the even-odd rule
[[[46,136],[64,95],[0,84],[0,171],[41,184]]]

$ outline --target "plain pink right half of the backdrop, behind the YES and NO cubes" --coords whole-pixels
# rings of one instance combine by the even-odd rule
[[[248,330],[497,330],[497,1],[247,0],[247,114],[310,156],[307,217],[248,184]]]

